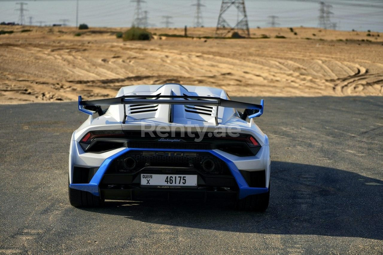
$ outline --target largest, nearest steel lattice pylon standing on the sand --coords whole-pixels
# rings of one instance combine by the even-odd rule
[[[237,8],[238,15],[241,15],[242,18],[239,19],[235,26],[231,26],[228,21],[223,17],[224,13],[231,7],[234,6]],[[231,31],[238,31],[247,37],[250,37],[249,23],[247,22],[246,8],[244,0],[222,0],[221,10],[219,11],[216,35],[226,36],[226,34]]]

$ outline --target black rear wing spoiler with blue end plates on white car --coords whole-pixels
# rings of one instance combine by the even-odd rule
[[[154,98],[154,99],[153,99]],[[168,99],[159,99],[168,98]],[[79,96],[79,110],[83,113],[92,115],[93,113],[102,113],[101,105],[208,105],[216,106],[216,119],[218,115],[218,106],[228,108],[244,108],[242,119],[249,117],[255,118],[263,114],[264,100],[261,99],[260,105],[244,103],[239,101],[227,100],[212,96],[163,96],[163,95],[130,95],[119,96],[115,98],[106,98],[98,100],[82,100]],[[102,114],[100,114],[102,115]],[[126,109],[124,107],[124,119],[126,119]],[[218,120],[216,120],[218,123]]]

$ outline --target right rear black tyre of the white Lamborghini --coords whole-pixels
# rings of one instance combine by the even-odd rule
[[[258,211],[264,212],[268,207],[270,199],[270,183],[268,191],[257,195],[250,195],[243,199],[237,200],[237,209],[241,211]]]

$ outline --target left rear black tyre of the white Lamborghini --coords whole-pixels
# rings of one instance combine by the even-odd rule
[[[74,207],[100,207],[104,204],[104,199],[95,196],[90,192],[76,190],[69,187],[68,181],[69,203]]]

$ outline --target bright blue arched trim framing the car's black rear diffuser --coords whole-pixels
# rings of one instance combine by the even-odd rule
[[[92,180],[90,180],[89,183],[84,184],[74,184],[71,183],[69,186],[70,188],[76,189],[76,190],[83,190],[88,191],[92,193],[95,196],[100,196],[98,185],[101,182],[101,179],[103,175],[106,172],[106,169],[108,169],[110,163],[113,159],[116,157],[119,157],[120,155],[124,154],[125,152],[128,152],[129,150],[151,150],[151,151],[182,151],[182,152],[210,152],[214,156],[218,157],[219,159],[222,159],[224,162],[228,164],[228,167],[231,171],[231,174],[234,176],[235,180],[237,181],[238,187],[239,187],[239,199],[246,198],[249,195],[255,195],[260,193],[266,193],[268,191],[268,188],[251,188],[249,185],[247,185],[246,180],[243,178],[241,173],[239,172],[236,165],[229,159],[223,157],[222,155],[218,154],[214,150],[188,150],[188,149],[137,149],[137,148],[126,148],[124,150],[121,150],[120,152],[108,157],[107,159],[102,162],[101,166],[98,168],[97,172],[93,176]]]

